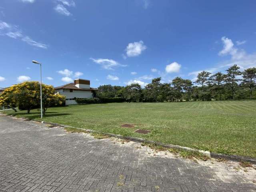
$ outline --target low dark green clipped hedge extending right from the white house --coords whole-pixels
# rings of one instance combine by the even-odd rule
[[[76,98],[76,102],[78,104],[93,104],[93,103],[121,103],[125,102],[125,99],[122,97],[114,97],[114,98],[94,98],[94,99],[80,99]]]

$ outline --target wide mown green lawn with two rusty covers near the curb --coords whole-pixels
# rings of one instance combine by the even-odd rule
[[[39,111],[8,114],[40,120]],[[256,100],[110,103],[49,108],[43,119],[212,152],[256,157]],[[135,128],[123,128],[122,124]],[[134,133],[137,129],[150,134]]]

